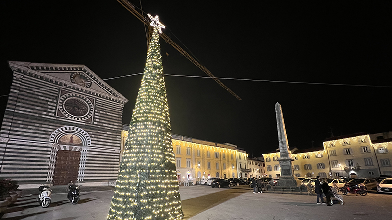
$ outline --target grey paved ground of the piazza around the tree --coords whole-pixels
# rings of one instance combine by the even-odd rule
[[[83,190],[83,188],[82,188]],[[245,186],[231,189],[209,186],[180,187],[188,220],[392,220],[392,195],[369,192],[343,196],[345,205],[317,205],[316,196],[260,193]],[[67,194],[55,193],[49,208],[36,195],[24,196],[9,207],[3,220],[106,220],[113,191],[81,191],[72,205]]]

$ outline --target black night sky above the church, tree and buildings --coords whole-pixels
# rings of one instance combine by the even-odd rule
[[[131,3],[140,8],[138,0]],[[100,78],[143,72],[144,25],[116,0],[1,0],[1,92],[7,61],[84,64]],[[166,76],[172,132],[232,143],[250,156],[278,148],[282,105],[291,148],[331,136],[392,130],[391,1],[146,1],[177,44],[217,77],[390,88]],[[207,76],[161,40],[165,74]],[[169,55],[166,55],[169,54]],[[123,94],[129,124],[141,75],[106,81]],[[7,97],[0,97],[3,117]]]

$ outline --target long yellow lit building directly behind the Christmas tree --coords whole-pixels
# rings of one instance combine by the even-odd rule
[[[127,125],[123,125],[120,156],[127,136]],[[237,169],[237,158],[245,158],[245,164],[248,156],[245,151],[237,150],[236,145],[229,143],[219,144],[176,134],[172,134],[172,142],[177,176],[181,182],[209,177],[238,178],[241,170]]]

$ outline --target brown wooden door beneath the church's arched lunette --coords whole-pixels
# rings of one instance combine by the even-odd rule
[[[71,180],[76,182],[79,172],[80,151],[58,150],[53,184],[67,185]]]

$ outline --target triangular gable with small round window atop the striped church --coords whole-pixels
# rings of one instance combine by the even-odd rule
[[[9,61],[11,68],[28,68],[36,73],[45,75],[51,79],[58,81],[66,81],[66,85],[82,88],[83,90],[90,90],[106,96],[115,97],[125,103],[128,101],[122,94],[110,87],[93,71],[84,65],[70,65],[70,64],[45,64],[45,63],[29,63]]]

